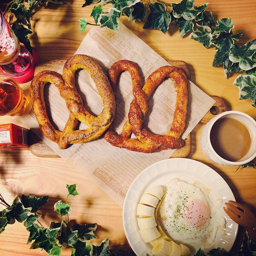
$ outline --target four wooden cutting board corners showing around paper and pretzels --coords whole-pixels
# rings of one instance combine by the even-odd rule
[[[66,60],[47,61],[41,60],[35,69],[35,75],[43,70],[58,71],[64,65]],[[189,65],[185,61],[168,61],[172,66],[181,68],[188,79],[190,79]],[[46,143],[44,143],[33,132],[30,133],[30,151],[38,157],[59,157]],[[190,134],[185,139],[185,145],[175,150],[171,157],[188,157],[191,152]]]

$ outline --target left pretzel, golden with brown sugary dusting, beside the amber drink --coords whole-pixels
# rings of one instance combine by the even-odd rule
[[[103,110],[99,116],[93,116],[83,106],[75,84],[75,73],[78,69],[87,70],[98,88],[103,103]],[[64,64],[62,77],[53,71],[38,73],[31,82],[30,97],[36,119],[44,135],[49,140],[58,143],[59,148],[64,149],[68,144],[84,143],[101,136],[113,121],[116,103],[107,76],[98,62],[87,55],[73,55],[69,58]],[[53,127],[47,115],[44,86],[48,82],[58,88],[70,112],[62,132]],[[88,128],[75,130],[79,121],[88,125]]]

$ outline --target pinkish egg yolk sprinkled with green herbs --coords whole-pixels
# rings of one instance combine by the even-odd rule
[[[210,217],[209,206],[200,199],[192,199],[186,203],[182,215],[189,226],[202,227]]]

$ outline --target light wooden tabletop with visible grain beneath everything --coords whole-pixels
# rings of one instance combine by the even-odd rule
[[[195,5],[205,2],[207,1],[195,0]],[[215,20],[231,17],[235,23],[233,32],[244,32],[238,44],[245,44],[255,37],[255,0],[209,2],[207,9],[213,13]],[[83,3],[83,0],[72,0],[63,6],[50,4],[47,9],[41,9],[34,16],[33,34],[30,39],[42,59],[67,59],[74,54],[86,35],[86,32],[79,34],[78,20],[86,17],[87,21],[93,22],[93,18],[90,17],[91,7],[81,8]],[[214,47],[205,49],[188,36],[179,38],[178,27],[174,24],[171,24],[168,33],[164,35],[159,30],[143,29],[140,22],[128,22],[127,18],[122,18],[122,22],[163,58],[186,61],[190,66],[191,80],[205,93],[223,97],[228,103],[229,110],[243,111],[256,116],[256,109],[251,106],[250,100],[238,99],[239,90],[233,86],[237,74],[226,79],[222,67],[212,67]],[[23,84],[22,87],[28,93],[29,83]],[[19,117],[0,117],[0,124],[8,122],[27,126],[20,122]],[[237,201],[256,209],[256,170],[252,167],[243,169],[239,166],[220,166],[208,160],[199,145],[203,126],[199,123],[192,131],[192,152],[189,158],[212,167],[227,181]],[[122,226],[121,207],[93,181],[81,175],[61,158],[35,157],[26,149],[0,151],[0,182],[0,191],[9,202],[15,194],[49,195],[49,203],[42,211],[44,217],[41,223],[45,227],[49,227],[51,221],[57,221],[57,213],[52,211],[53,204],[65,198],[66,184],[76,183],[80,195],[70,196],[70,218],[76,219],[78,223],[99,224],[96,243],[109,237],[111,248],[130,249]],[[243,232],[244,230],[239,229],[233,250],[240,247]],[[41,254],[40,250],[29,250],[27,238],[28,232],[23,224],[7,226],[0,235],[0,255],[47,255],[45,252]],[[70,249],[62,250],[61,255],[70,255]]]

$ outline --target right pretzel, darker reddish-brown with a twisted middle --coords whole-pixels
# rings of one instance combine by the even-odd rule
[[[121,134],[117,134],[110,127],[104,136],[105,140],[116,147],[143,153],[153,153],[183,146],[184,141],[180,139],[180,135],[186,123],[188,101],[187,79],[183,71],[177,67],[160,67],[148,77],[141,89],[142,81],[136,64],[132,61],[117,61],[109,70],[109,77],[114,90],[117,78],[122,71],[128,71],[131,74],[134,99],[131,102],[128,120],[122,128]],[[148,112],[148,99],[165,77],[170,77],[175,81],[177,99],[170,131],[165,135],[157,135],[144,128],[143,121]],[[131,138],[132,132],[137,139]]]

